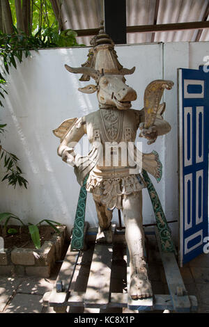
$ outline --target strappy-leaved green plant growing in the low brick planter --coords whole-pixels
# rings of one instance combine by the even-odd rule
[[[36,248],[40,248],[40,234],[39,234],[39,230],[38,227],[41,225],[41,223],[43,223],[44,221],[51,226],[52,228],[54,228],[54,230],[57,233],[60,233],[59,229],[56,228],[56,225],[61,225],[61,223],[58,223],[56,221],[51,221],[49,219],[43,219],[42,221],[39,221],[36,225],[33,225],[31,223],[29,223],[28,225],[25,225],[22,220],[15,216],[15,214],[11,214],[10,212],[2,212],[0,214],[0,222],[1,221],[5,221],[4,225],[3,225],[3,236],[5,237],[6,234],[16,234],[17,230],[15,230],[15,228],[10,228],[8,230],[6,230],[7,226],[8,226],[8,222],[10,221],[10,218],[14,218],[17,221],[20,221],[20,223],[22,223],[23,226],[28,226],[29,228],[29,234],[31,235],[31,239],[33,241],[33,244]]]

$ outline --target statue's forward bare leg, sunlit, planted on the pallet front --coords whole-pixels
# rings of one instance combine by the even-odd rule
[[[123,199],[125,239],[130,253],[130,296],[134,299],[152,296],[144,260],[144,230],[142,223],[142,193]]]

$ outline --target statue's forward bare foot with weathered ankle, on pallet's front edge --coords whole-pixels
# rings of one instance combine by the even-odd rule
[[[153,296],[152,287],[148,280],[148,273],[145,265],[135,268],[131,273],[130,296],[134,300]]]

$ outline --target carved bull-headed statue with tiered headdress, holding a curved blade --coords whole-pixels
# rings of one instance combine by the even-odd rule
[[[88,60],[82,67],[65,65],[65,68],[82,74],[82,81],[89,81],[90,77],[95,80],[96,85],[90,84],[79,91],[97,91],[100,109],[79,119],[65,120],[54,130],[54,134],[61,138],[58,154],[75,167],[79,184],[89,174],[86,190],[93,193],[100,241],[112,242],[112,212],[114,208],[122,210],[130,252],[130,295],[132,298],[146,298],[152,296],[152,289],[144,260],[142,225],[141,190],[146,183],[139,168],[159,181],[162,165],[157,152],[143,154],[137,150],[134,141],[138,128],[141,129],[140,136],[148,139],[148,144],[170,131],[169,123],[162,118],[165,104],[160,104],[160,100],[164,88],[170,89],[173,82],[153,81],[145,90],[144,109],[130,109],[137,93],[125,84],[124,76],[132,74],[135,68],[125,69],[118,62],[114,43],[104,33],[103,27],[93,38],[92,45]],[[74,147],[84,134],[87,134],[92,149],[88,156],[81,157],[75,154]]]

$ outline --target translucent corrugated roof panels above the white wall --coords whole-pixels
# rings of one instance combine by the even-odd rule
[[[114,1],[114,0],[113,0]],[[199,22],[209,0],[160,0],[157,24]],[[127,26],[154,24],[156,0],[126,0]],[[65,29],[95,29],[104,19],[102,0],[65,0],[62,6]],[[156,32],[154,42],[195,41],[197,30]],[[77,38],[89,45],[91,37]],[[127,43],[151,42],[152,33],[127,33]],[[201,33],[201,41],[209,40],[209,29]]]

